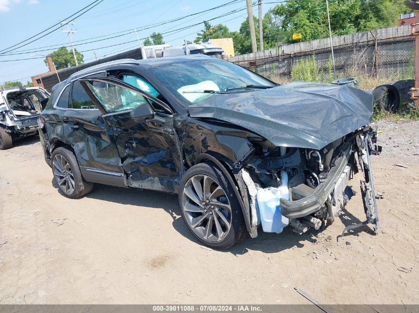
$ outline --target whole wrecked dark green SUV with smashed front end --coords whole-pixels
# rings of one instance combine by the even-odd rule
[[[54,87],[39,125],[63,195],[94,183],[177,193],[191,232],[221,249],[258,229],[330,224],[359,169],[366,223],[377,229],[371,117],[372,95],[360,89],[278,86],[227,61],[184,56],[75,73]]]

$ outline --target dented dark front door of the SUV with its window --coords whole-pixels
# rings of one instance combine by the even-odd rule
[[[140,122],[130,115],[136,107],[151,102],[159,105],[160,100],[112,78],[81,81],[104,113],[102,118],[114,136],[128,186],[177,192],[180,153],[172,114],[155,112],[154,118]]]

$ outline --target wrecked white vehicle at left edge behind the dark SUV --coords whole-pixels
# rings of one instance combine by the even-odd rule
[[[0,150],[11,148],[14,140],[38,134],[38,116],[49,97],[40,87],[0,92]]]

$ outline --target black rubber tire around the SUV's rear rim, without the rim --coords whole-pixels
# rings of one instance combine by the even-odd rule
[[[65,190],[65,186],[62,186],[62,184],[60,184],[59,176],[54,172],[54,171],[59,171],[57,169],[57,166],[54,164],[54,160],[56,160],[56,156],[57,156],[57,160],[61,157],[64,158],[64,160],[69,165],[69,168],[71,170],[71,176],[74,182],[74,187],[72,191],[71,189],[68,191]],[[79,198],[81,196],[84,196],[85,194],[88,194],[90,191],[92,191],[94,183],[83,179],[80,173],[80,168],[78,167],[77,159],[75,155],[73,154],[73,152],[70,151],[69,149],[66,149],[65,147],[59,147],[55,149],[53,152],[53,155],[51,156],[51,165],[52,165],[54,179],[57,185],[59,186],[61,193],[67,198],[71,198],[71,199]]]

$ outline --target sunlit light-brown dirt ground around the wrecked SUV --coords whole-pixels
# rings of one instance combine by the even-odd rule
[[[299,287],[324,304],[418,304],[419,122],[379,126],[377,236],[337,240],[365,220],[358,192],[322,232],[261,232],[227,251],[197,243],[174,195],[97,184],[61,196],[38,137],[16,142],[0,151],[0,303],[309,304]]]

